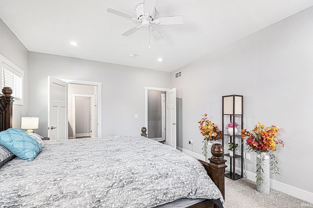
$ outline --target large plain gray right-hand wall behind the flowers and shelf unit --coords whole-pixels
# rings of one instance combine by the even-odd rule
[[[281,127],[285,147],[275,152],[281,175],[271,178],[312,193],[312,20],[313,7],[173,71],[171,84],[182,100],[179,146],[201,154],[200,114],[222,128],[222,96],[243,95],[244,128],[258,121]],[[180,70],[183,76],[175,79]],[[247,171],[255,172],[255,156],[245,160]]]

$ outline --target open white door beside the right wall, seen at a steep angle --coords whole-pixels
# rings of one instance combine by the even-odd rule
[[[166,91],[166,145],[176,148],[176,88]]]

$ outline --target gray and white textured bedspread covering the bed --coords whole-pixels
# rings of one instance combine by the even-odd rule
[[[45,141],[0,167],[0,207],[151,208],[223,197],[195,159],[140,136]]]

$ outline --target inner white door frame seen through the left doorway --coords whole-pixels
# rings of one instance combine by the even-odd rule
[[[73,139],[76,138],[76,97],[84,97],[84,98],[90,98],[91,105],[90,105],[90,130],[94,131],[94,126],[92,125],[92,121],[94,118],[94,109],[92,106],[94,106],[94,95],[84,95],[84,94],[72,94],[72,125],[73,125]],[[93,138],[92,132],[90,132],[90,138]]]

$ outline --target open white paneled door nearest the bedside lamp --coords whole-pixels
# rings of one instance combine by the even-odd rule
[[[48,137],[68,139],[67,83],[48,76]]]

